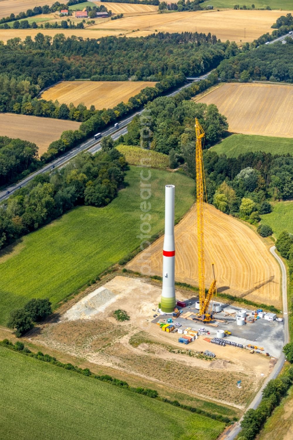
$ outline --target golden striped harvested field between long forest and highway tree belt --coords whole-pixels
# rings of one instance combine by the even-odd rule
[[[155,84],[150,81],[64,81],[46,90],[42,98],[58,99],[60,104],[94,105],[98,110],[114,107],[121,101],[126,103],[143,88]]]

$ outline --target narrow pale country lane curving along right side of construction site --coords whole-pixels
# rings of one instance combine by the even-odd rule
[[[281,258],[276,253],[276,246],[272,246],[270,248],[271,254],[275,257],[275,259],[278,261],[278,263],[281,266],[282,270],[282,299],[283,299],[283,319],[284,319],[284,345],[288,344],[289,342],[289,323],[288,323],[288,307],[287,307],[287,275],[286,275],[286,267],[285,264],[282,262]],[[278,362],[276,363],[274,369],[272,370],[271,374],[266,378],[264,381],[264,384],[262,385],[259,392],[256,394],[253,401],[250,403],[249,407],[246,409],[249,410],[250,408],[256,409],[258,405],[260,404],[261,398],[262,398],[262,392],[264,387],[267,385],[267,382],[271,379],[275,379],[280,371],[282,370],[282,367],[285,363],[285,356],[282,353],[282,355],[279,357]],[[243,418],[243,416],[242,416]],[[240,422],[242,418],[239,421],[239,424],[234,425],[234,428],[231,429],[229,433],[227,433],[227,436],[225,436],[225,440],[233,440],[241,431]]]

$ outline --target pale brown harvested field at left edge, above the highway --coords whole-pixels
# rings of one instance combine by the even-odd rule
[[[26,116],[24,114],[0,114],[0,136],[9,136],[34,142],[39,155],[47,151],[53,140],[59,139],[65,130],[77,130],[80,122],[63,121],[49,117]]]

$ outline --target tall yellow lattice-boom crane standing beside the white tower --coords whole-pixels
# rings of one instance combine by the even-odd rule
[[[195,118],[195,165],[196,165],[196,206],[198,216],[198,287],[199,287],[199,313],[202,321],[208,322],[212,319],[209,313],[209,304],[214,294],[216,294],[216,277],[214,265],[212,264],[213,281],[209,292],[205,296],[205,246],[204,246],[204,169],[202,159],[201,139],[205,137],[205,132],[201,128],[198,119]]]

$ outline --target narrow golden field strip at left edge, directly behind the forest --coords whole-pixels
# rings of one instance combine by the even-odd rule
[[[119,35],[123,32],[112,29],[93,29],[92,26],[90,28],[88,27],[87,29],[0,29],[0,41],[7,43],[7,40],[15,37],[25,40],[27,35],[34,39],[37,33],[49,35],[52,38],[57,33],[63,33],[66,38],[71,37],[72,35],[82,38],[101,38],[107,37],[108,35]]]

